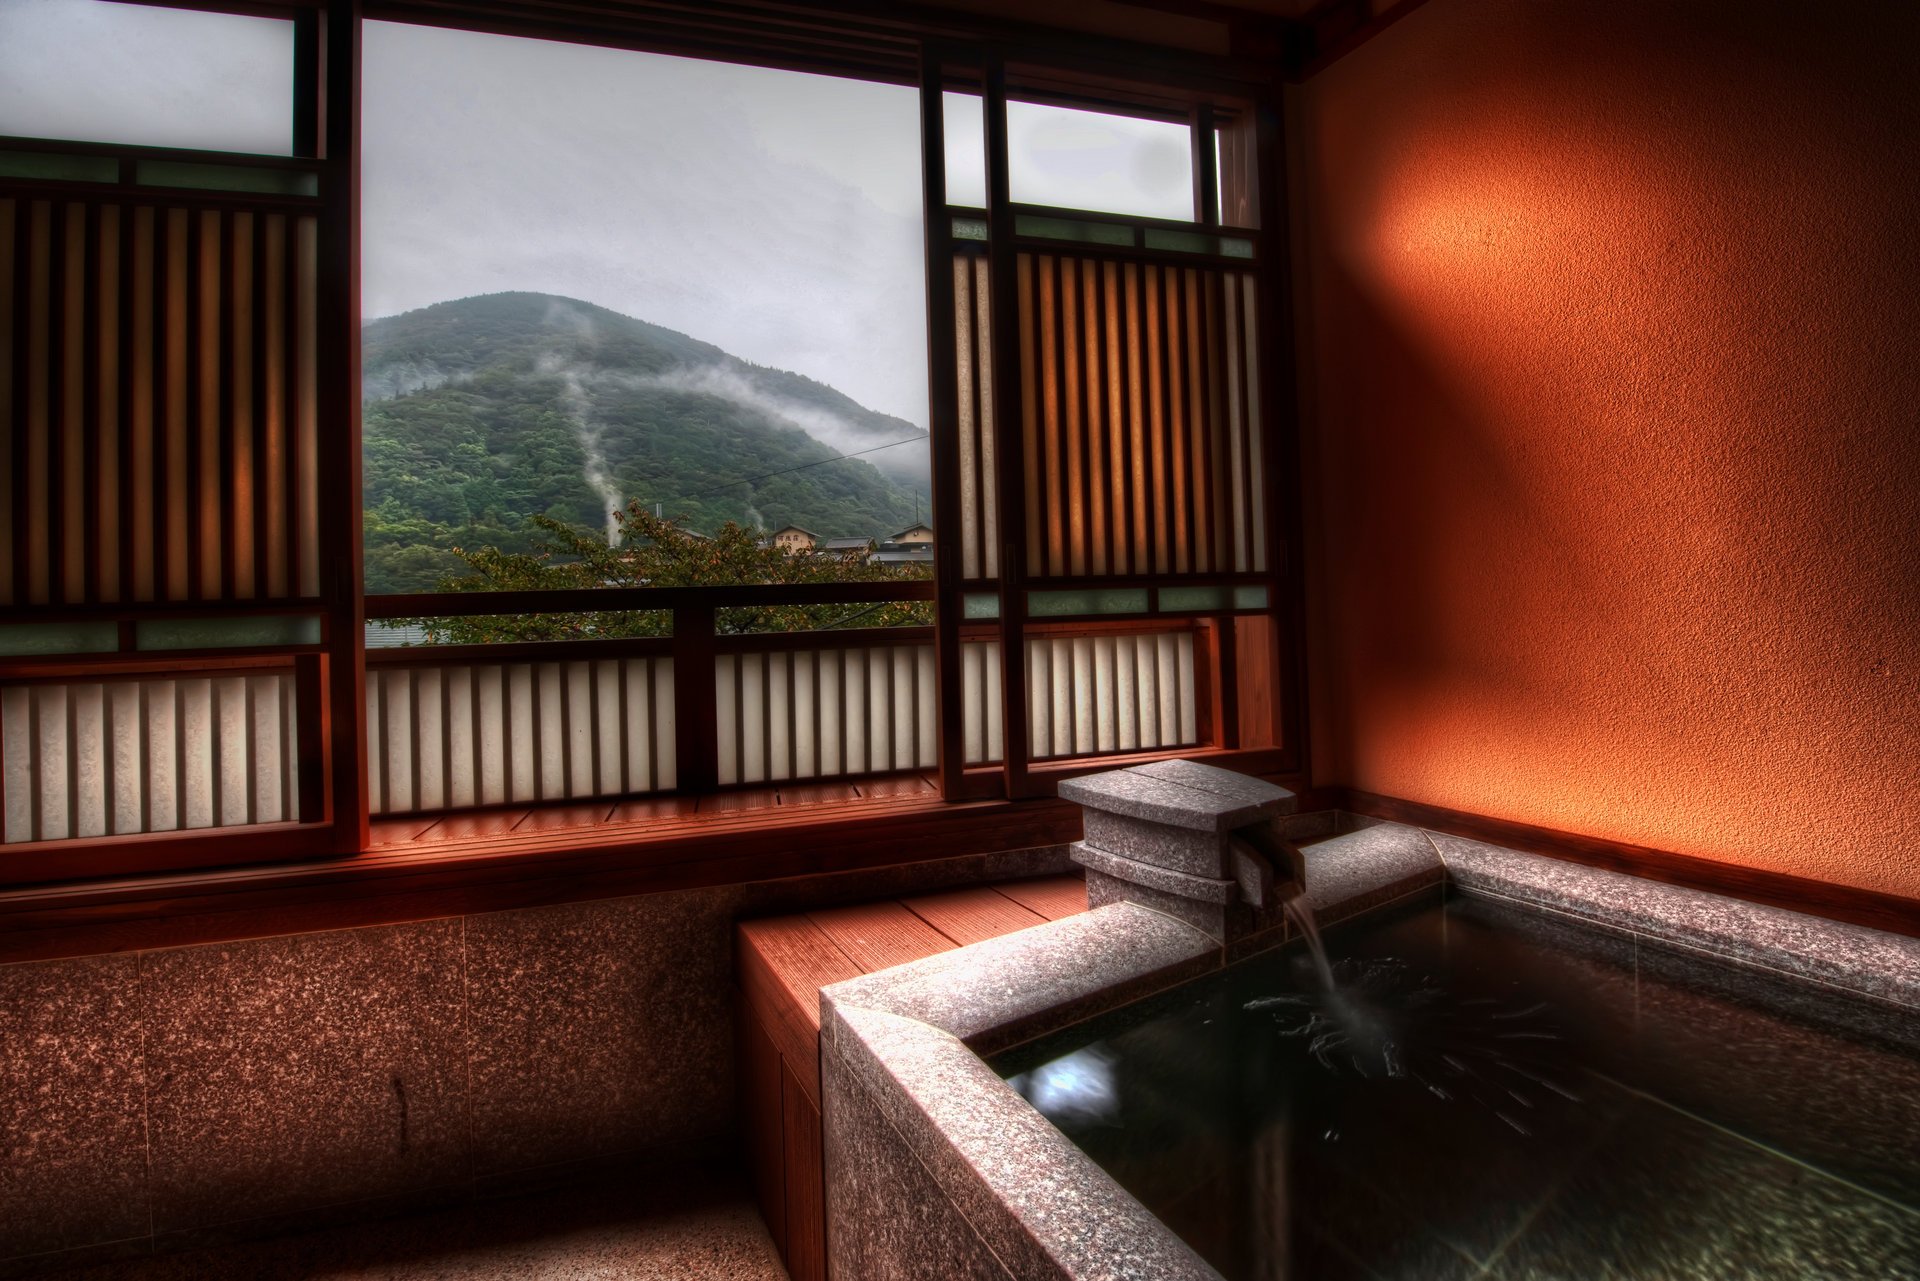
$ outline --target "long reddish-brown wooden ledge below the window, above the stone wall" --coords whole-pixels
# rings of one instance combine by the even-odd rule
[[[0,964],[852,872],[1079,839],[1056,799],[795,787],[380,820],[363,855],[0,891]]]

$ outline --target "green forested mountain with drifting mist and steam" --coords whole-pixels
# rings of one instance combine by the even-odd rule
[[[422,592],[453,547],[528,549],[530,519],[601,530],[628,499],[872,536],[925,519],[927,444],[803,375],[551,294],[484,294],[363,330],[367,590]],[[877,446],[895,446],[881,447]],[[858,459],[828,461],[876,449]]]

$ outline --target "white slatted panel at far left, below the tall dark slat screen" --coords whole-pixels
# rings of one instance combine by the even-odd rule
[[[292,822],[294,674],[0,689],[6,841]]]

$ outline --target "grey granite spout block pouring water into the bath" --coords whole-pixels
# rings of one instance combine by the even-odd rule
[[[1198,761],[1156,761],[1060,784],[1079,803],[1087,903],[1139,903],[1221,943],[1281,926],[1306,862],[1279,832],[1284,787]]]

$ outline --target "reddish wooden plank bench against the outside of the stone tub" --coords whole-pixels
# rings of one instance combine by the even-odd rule
[[[760,1214],[793,1281],[824,1281],[820,989],[1087,910],[1079,876],[741,922],[739,1085]]]

